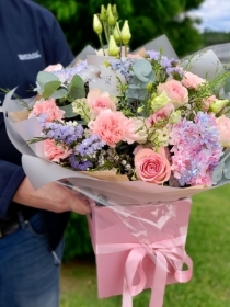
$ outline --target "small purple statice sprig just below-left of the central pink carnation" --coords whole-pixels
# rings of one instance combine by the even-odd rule
[[[92,135],[76,146],[76,152],[81,157],[92,156],[95,151],[101,150],[105,145],[106,143],[101,140],[97,135]]]

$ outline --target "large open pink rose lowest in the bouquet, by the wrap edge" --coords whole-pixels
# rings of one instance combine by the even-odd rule
[[[135,156],[137,178],[154,184],[162,184],[171,175],[170,162],[163,148],[159,152],[143,148]]]

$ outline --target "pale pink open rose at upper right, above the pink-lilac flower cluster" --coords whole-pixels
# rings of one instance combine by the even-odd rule
[[[175,109],[188,102],[188,91],[180,81],[169,80],[165,83],[160,83],[157,91],[158,94],[164,91]]]

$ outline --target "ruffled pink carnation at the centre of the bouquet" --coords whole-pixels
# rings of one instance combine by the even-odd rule
[[[115,147],[120,140],[125,140],[128,118],[122,112],[105,110],[99,113],[95,121],[89,122],[88,126],[92,134],[99,135],[108,146]]]

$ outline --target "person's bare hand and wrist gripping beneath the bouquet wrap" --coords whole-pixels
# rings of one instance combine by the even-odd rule
[[[74,194],[67,187],[51,182],[34,190],[27,178],[23,180],[14,194],[13,201],[30,207],[61,213],[73,211],[79,214],[90,213],[88,198],[82,194]]]

